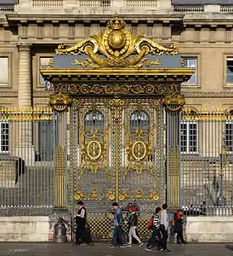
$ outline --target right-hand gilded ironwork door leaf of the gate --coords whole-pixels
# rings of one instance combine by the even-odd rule
[[[124,110],[119,201],[154,210],[163,198],[163,113],[159,100],[131,100]]]

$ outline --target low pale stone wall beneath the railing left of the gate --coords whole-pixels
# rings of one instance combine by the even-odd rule
[[[0,217],[0,241],[48,241],[48,216]]]

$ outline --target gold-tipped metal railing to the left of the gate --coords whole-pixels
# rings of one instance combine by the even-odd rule
[[[2,108],[0,128],[0,214],[47,214],[54,207],[54,113]]]

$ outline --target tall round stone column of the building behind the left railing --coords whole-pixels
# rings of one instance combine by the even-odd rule
[[[19,45],[18,93],[18,107],[24,113],[26,108],[31,108],[31,46],[28,44]],[[29,119],[19,121],[19,142],[15,150],[16,155],[26,161],[26,166],[35,163],[31,125]]]

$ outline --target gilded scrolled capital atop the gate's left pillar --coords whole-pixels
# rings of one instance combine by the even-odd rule
[[[71,97],[61,92],[51,95],[49,105],[57,112],[64,112],[68,107],[71,107]]]

